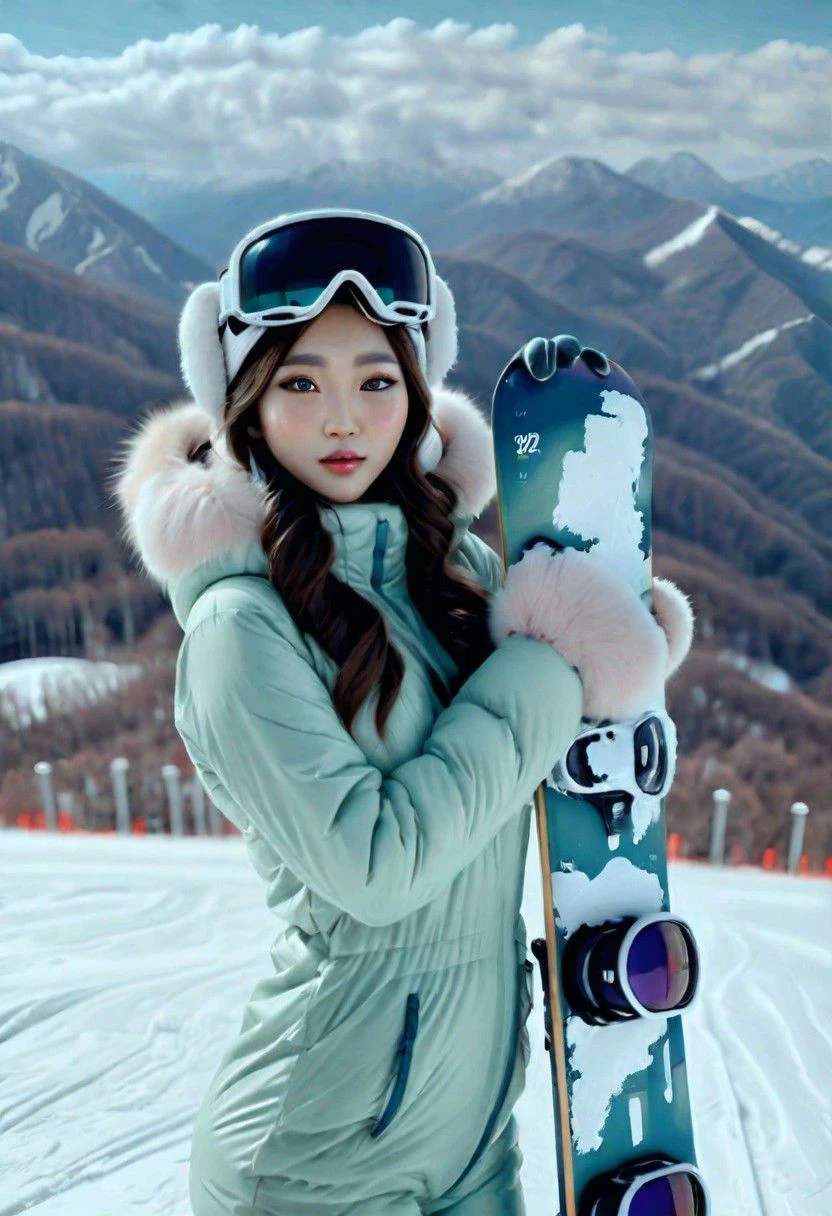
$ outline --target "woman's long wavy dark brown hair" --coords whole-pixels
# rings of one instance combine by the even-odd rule
[[[342,286],[335,300],[359,309],[349,283]],[[383,615],[330,573],[335,546],[317,513],[317,506],[330,505],[328,500],[276,460],[258,426],[260,395],[309,325],[311,321],[275,326],[260,337],[229,385],[224,428],[229,447],[243,468],[249,469],[252,452],[265,474],[269,510],[260,542],[269,559],[269,578],[298,627],[311,634],[339,665],[333,692],[337,713],[349,730],[378,681],[376,728],[383,738],[404,676],[404,660],[388,637]],[[457,666],[448,688],[429,668],[434,691],[446,705],[494,649],[488,596],[476,579],[445,564],[457,495],[444,478],[425,473],[418,466],[417,447],[431,424],[431,392],[404,325],[386,330],[407,388],[407,421],[387,468],[365,491],[366,497],[354,501],[388,501],[403,510],[409,527],[406,578],[411,599]]]

